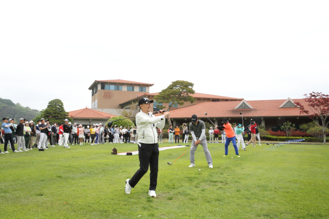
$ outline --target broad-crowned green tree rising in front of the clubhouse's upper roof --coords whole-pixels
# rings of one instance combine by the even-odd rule
[[[161,90],[154,99],[159,104],[170,104],[167,111],[170,111],[173,105],[183,105],[184,102],[194,103],[195,98],[189,94],[195,93],[193,90],[194,84],[187,81],[172,82],[166,89]],[[163,109],[166,106],[159,106]]]

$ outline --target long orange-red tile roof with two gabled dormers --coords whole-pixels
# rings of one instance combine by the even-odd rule
[[[205,112],[209,118],[213,117],[240,117],[240,112],[245,117],[267,117],[267,116],[306,116],[306,114],[299,114],[299,108],[279,108],[286,99],[267,100],[267,101],[246,101],[252,105],[254,109],[236,109],[234,108],[241,103],[241,101],[228,102],[205,102],[184,108],[171,110],[172,118],[190,118],[193,114],[198,117],[206,117]],[[293,99],[294,102],[300,102],[307,106],[304,99]],[[306,107],[307,108],[307,107]]]

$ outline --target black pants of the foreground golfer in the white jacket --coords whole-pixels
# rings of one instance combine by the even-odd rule
[[[150,190],[156,189],[158,179],[158,163],[159,163],[159,145],[155,144],[143,144],[139,143],[138,157],[139,157],[139,170],[135,173],[132,179],[129,181],[131,187],[135,187],[145,173],[149,170],[150,165]]]

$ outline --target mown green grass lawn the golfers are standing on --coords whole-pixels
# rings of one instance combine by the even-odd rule
[[[329,218],[329,146],[248,146],[239,158],[231,145],[223,157],[223,144],[208,144],[213,169],[200,146],[194,168],[189,152],[167,164],[188,147],[160,151],[156,198],[148,196],[150,171],[124,193],[138,155],[111,155],[113,147],[138,150],[105,144],[0,154],[0,218]]]

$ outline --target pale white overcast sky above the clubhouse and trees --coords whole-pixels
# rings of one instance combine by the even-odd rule
[[[0,97],[91,107],[97,80],[230,97],[329,94],[329,1],[2,1]],[[15,86],[11,86],[15,85]]]

